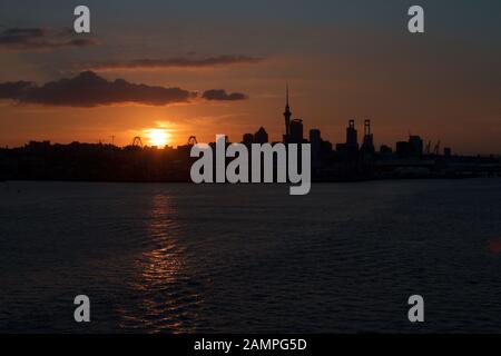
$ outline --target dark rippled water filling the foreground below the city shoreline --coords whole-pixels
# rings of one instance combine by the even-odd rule
[[[501,332],[501,180],[0,184],[0,332]]]

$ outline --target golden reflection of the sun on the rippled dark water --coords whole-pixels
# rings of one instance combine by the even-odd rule
[[[119,310],[121,326],[149,333],[193,332],[202,296],[186,286],[189,274],[185,270],[185,248],[177,240],[179,225],[169,196],[153,196],[146,224],[148,237],[130,285],[137,298],[128,310]]]

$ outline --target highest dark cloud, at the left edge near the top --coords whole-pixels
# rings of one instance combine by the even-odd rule
[[[9,51],[42,51],[97,43],[96,38],[76,34],[70,29],[10,28],[0,32],[0,50]]]

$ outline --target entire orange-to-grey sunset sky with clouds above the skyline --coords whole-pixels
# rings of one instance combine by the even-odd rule
[[[70,31],[78,4],[90,36]],[[293,117],[334,144],[353,118],[377,147],[501,154],[500,19],[499,0],[0,0],[0,146],[279,140],[288,81]]]

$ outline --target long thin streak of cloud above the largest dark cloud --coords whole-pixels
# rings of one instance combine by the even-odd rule
[[[263,58],[247,56],[218,56],[208,58],[168,58],[168,59],[136,59],[125,61],[106,61],[88,66],[95,71],[105,70],[156,70],[168,68],[213,68],[239,63],[258,63]]]

